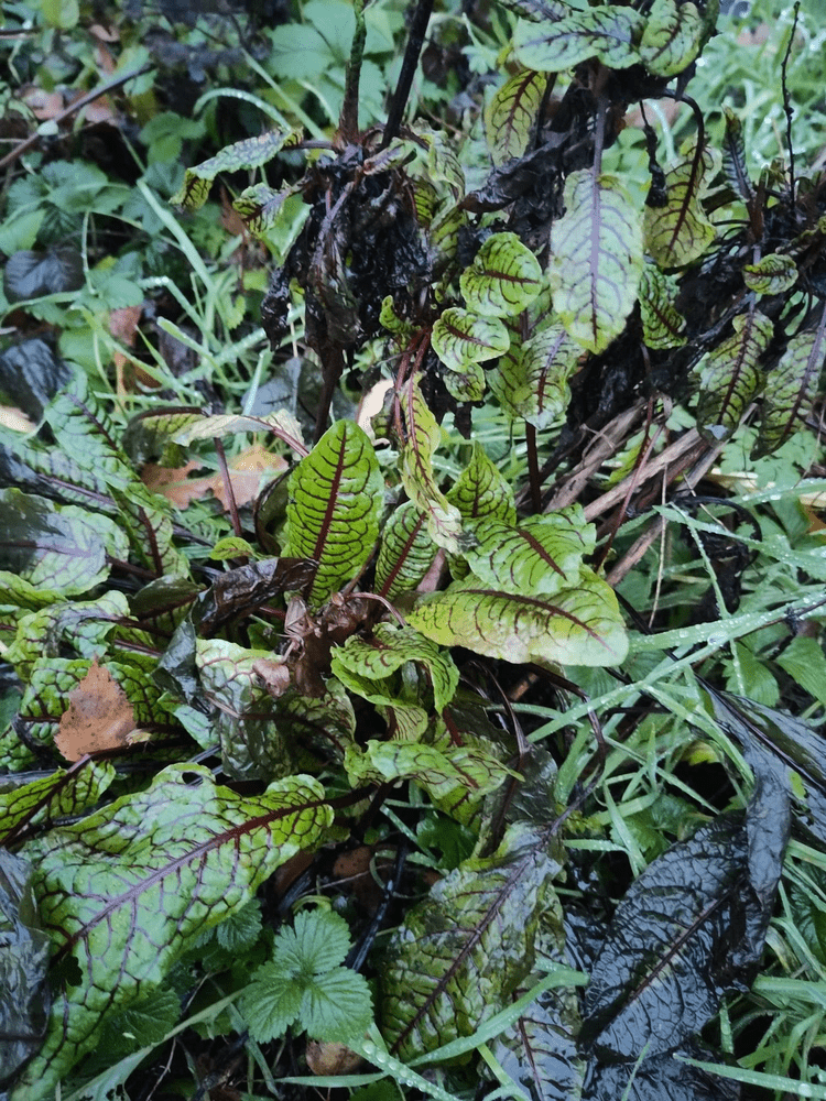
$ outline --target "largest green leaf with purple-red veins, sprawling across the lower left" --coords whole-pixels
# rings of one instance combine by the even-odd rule
[[[43,1047],[11,1101],[52,1097],[95,1047],[107,1014],[160,986],[192,938],[244,906],[332,822],[324,788],[309,776],[244,798],[216,786],[208,768],[182,764],[31,843],[52,964],[79,970],[80,981],[57,991]]]

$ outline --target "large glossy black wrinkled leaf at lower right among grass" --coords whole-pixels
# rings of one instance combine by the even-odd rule
[[[749,884],[746,827],[703,826],[617,907],[585,995],[580,1043],[606,1061],[673,1051],[743,990],[770,914]]]

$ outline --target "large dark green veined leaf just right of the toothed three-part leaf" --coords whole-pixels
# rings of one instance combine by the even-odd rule
[[[470,1036],[506,1007],[533,968],[559,866],[547,839],[520,824],[407,911],[381,973],[382,1033],[401,1059]]]

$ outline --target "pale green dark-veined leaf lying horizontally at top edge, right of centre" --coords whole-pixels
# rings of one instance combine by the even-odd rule
[[[628,68],[640,59],[635,44],[644,25],[639,12],[616,4],[574,12],[544,25],[520,20],[513,52],[520,65],[540,73],[561,73],[589,57],[609,68]]]

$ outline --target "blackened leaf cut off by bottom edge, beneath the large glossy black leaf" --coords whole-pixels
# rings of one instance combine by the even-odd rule
[[[681,1054],[710,1061],[702,1048]],[[637,1067],[633,1062],[594,1064],[583,1101],[738,1101],[740,1086],[717,1078],[699,1067],[681,1062],[674,1055],[655,1055]],[[626,1092],[628,1091],[628,1092]]]

